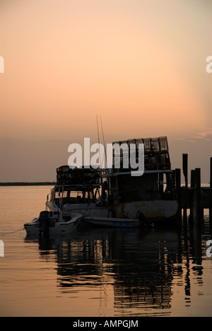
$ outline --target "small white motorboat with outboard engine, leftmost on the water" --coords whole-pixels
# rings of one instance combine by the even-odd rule
[[[66,234],[75,231],[82,215],[62,211],[41,211],[40,216],[24,224],[27,234],[48,236],[49,234]]]

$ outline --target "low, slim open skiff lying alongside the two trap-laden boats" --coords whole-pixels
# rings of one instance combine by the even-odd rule
[[[143,225],[139,219],[119,219],[118,217],[83,216],[82,221],[93,226],[110,228],[141,228]]]

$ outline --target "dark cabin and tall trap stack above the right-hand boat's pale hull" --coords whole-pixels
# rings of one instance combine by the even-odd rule
[[[131,175],[131,167],[123,167],[123,153],[120,149],[121,166],[119,169],[107,169],[103,178],[108,184],[108,203],[151,201],[173,199],[173,171],[171,170],[167,137],[130,139],[113,144],[136,145],[136,156],[139,155],[139,144],[144,144],[144,173]]]

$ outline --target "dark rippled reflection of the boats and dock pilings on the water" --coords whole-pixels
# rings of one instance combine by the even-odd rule
[[[56,263],[61,293],[77,296],[82,289],[99,287],[100,301],[113,300],[116,315],[143,315],[148,310],[168,314],[173,286],[184,286],[185,306],[190,305],[191,277],[203,281],[202,261],[211,233],[206,219],[198,228],[187,221],[145,233],[92,228],[64,238],[25,240],[38,244],[42,259]]]

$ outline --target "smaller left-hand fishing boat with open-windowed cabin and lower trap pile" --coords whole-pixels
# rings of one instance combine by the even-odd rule
[[[93,168],[57,168],[57,185],[47,195],[49,211],[75,212],[85,216],[107,217],[110,207],[102,196],[102,172]]]

